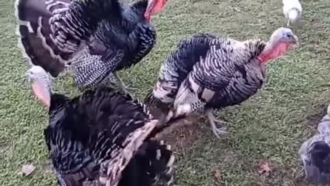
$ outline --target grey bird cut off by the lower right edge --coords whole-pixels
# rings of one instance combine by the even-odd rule
[[[309,180],[317,185],[330,184],[330,105],[318,124],[318,134],[305,141],[298,154]]]

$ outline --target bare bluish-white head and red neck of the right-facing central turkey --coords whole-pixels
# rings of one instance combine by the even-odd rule
[[[265,49],[258,56],[261,63],[272,61],[287,54],[288,50],[298,46],[298,37],[289,28],[278,28],[270,37]]]

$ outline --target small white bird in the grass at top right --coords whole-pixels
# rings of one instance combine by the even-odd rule
[[[288,27],[296,23],[303,14],[299,0],[283,0],[283,14]]]

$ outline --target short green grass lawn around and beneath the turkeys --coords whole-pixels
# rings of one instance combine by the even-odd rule
[[[0,185],[55,185],[43,139],[47,112],[25,81],[28,65],[17,50],[13,3],[0,0]],[[308,185],[296,178],[297,151],[314,134],[330,102],[330,7],[325,0],[302,3],[300,48],[268,66],[267,83],[258,95],[221,112],[232,123],[232,134],[219,140],[204,123],[176,133],[181,133],[173,144],[176,185]],[[280,0],[170,0],[154,22],[157,47],[131,72],[122,72],[124,81],[139,88],[135,93],[140,97],[153,87],[164,57],[180,39],[197,32],[267,39],[285,25]],[[59,79],[56,90],[78,94],[70,77]],[[262,162],[272,165],[271,177],[259,176]],[[33,176],[19,176],[28,163],[36,165]]]

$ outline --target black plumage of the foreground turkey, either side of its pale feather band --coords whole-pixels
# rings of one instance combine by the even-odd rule
[[[72,100],[52,95],[50,125],[44,134],[59,184],[83,185],[98,180],[100,164],[113,158],[127,136],[148,121],[142,105],[109,89],[87,91]],[[144,152],[136,154],[124,169],[119,185],[151,185],[162,169],[153,167],[156,150],[166,156],[155,159],[156,166],[166,167],[171,156],[165,147],[146,142]]]

